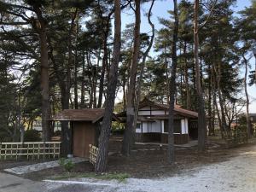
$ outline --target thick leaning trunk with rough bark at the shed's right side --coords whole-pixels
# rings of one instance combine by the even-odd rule
[[[119,55],[121,48],[121,15],[120,2],[114,0],[114,38],[113,38],[113,62],[110,68],[107,102],[102,121],[102,130],[99,140],[99,151],[96,158],[96,172],[105,172],[108,165],[108,142],[110,137],[111,122],[113,115],[113,105],[115,99],[115,90],[118,81]]]

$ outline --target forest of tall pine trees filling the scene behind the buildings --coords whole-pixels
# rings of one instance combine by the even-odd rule
[[[20,141],[38,119],[49,141],[55,113],[106,108],[96,164],[102,172],[112,112],[127,112],[122,153],[129,156],[144,96],[169,104],[170,112],[175,103],[199,112],[200,151],[216,122],[229,134],[252,102],[247,86],[256,83],[256,1],[236,14],[236,0],[168,1],[174,9],[158,18],[160,30],[151,20],[156,0],[0,1],[0,142]],[[134,20],[123,23],[123,12]],[[143,12],[148,33],[141,32]],[[172,115],[169,122],[172,163]],[[63,154],[69,134],[61,123]]]

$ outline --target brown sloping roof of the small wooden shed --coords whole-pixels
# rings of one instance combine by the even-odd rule
[[[84,108],[84,109],[65,109],[55,114],[52,120],[59,121],[91,121],[96,123],[102,119],[105,113],[104,108]],[[113,119],[119,121],[119,118],[113,113]]]

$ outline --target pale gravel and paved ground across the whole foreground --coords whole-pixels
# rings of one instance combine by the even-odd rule
[[[36,182],[0,173],[0,192],[254,192],[256,191],[256,146],[239,149],[230,160],[194,168],[174,177],[129,178],[126,183],[82,178],[77,183]],[[106,183],[106,185],[104,185]]]

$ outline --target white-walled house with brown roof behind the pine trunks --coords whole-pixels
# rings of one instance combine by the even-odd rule
[[[169,106],[158,104],[148,99],[140,102],[137,118],[137,142],[168,142]],[[175,106],[174,108],[174,143],[189,143],[197,139],[198,113]],[[125,120],[126,113],[119,113]]]

